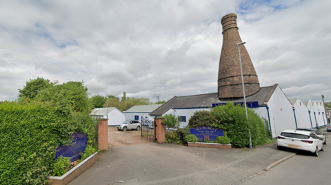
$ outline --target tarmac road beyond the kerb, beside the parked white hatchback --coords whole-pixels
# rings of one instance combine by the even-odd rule
[[[331,184],[331,146],[326,144],[319,157],[297,153],[294,157],[241,185]]]

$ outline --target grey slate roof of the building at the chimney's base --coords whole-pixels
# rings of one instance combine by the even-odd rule
[[[259,105],[265,105],[268,102],[274,90],[277,88],[278,84],[268,87],[261,87],[261,89],[252,96],[246,97],[246,102],[259,102]],[[164,105],[160,106],[158,109],[152,111],[150,116],[161,116],[163,113],[171,108],[209,108],[212,107],[213,103],[225,103],[226,101],[219,100],[217,92],[210,94],[198,94],[192,96],[174,96]],[[242,99],[234,100],[232,102],[243,102]]]

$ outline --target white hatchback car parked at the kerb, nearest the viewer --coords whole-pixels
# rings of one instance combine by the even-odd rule
[[[319,156],[319,151],[324,151],[324,146],[316,134],[308,131],[285,130],[277,137],[278,149],[289,148],[301,151],[310,151],[314,156]]]

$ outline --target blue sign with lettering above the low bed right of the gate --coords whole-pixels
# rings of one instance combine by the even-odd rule
[[[197,127],[190,129],[191,133],[197,136],[198,141],[208,139],[210,141],[216,140],[217,136],[224,136],[224,131],[215,129],[213,127]]]

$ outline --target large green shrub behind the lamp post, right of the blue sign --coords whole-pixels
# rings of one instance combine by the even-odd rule
[[[245,108],[240,105],[234,106],[233,102],[214,107],[211,109],[211,112],[218,120],[213,124],[213,127],[217,129],[224,128],[228,133],[232,146],[240,148],[248,146],[250,143],[249,130],[252,138],[252,146],[267,143],[263,120],[251,109],[248,108],[248,121]]]

